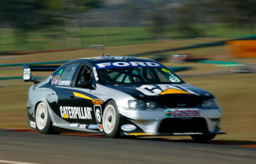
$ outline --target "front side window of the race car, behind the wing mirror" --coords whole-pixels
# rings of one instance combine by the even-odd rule
[[[78,85],[79,82],[81,81],[88,81],[88,82],[92,82],[93,81],[93,73],[90,69],[90,67],[88,67],[87,65],[82,65],[79,72],[78,72],[78,76],[76,79],[76,85]]]

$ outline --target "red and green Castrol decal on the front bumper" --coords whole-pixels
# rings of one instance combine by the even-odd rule
[[[167,117],[200,117],[201,110],[200,109],[187,109],[187,110],[164,110],[164,114]]]

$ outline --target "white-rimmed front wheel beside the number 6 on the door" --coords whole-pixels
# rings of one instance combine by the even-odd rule
[[[108,138],[119,137],[119,120],[116,103],[114,100],[110,100],[104,108],[102,117],[103,130]]]

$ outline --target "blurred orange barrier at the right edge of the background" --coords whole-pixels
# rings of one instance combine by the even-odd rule
[[[235,57],[256,57],[256,40],[236,40],[225,43],[227,53]]]

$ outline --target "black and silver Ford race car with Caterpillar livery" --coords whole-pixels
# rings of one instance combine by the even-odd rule
[[[43,82],[32,71],[53,71]],[[184,136],[213,139],[222,110],[206,90],[185,83],[151,59],[95,57],[61,66],[23,66],[29,88],[29,126],[40,133],[61,131],[122,136]]]

